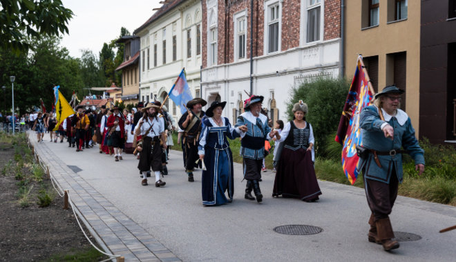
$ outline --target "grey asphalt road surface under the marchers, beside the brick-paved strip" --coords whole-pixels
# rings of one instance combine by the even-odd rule
[[[399,196],[393,229],[422,239],[385,252],[368,242],[370,210],[360,188],[319,181],[323,195],[318,203],[272,199],[274,173],[264,172],[265,199],[258,204],[244,199],[241,165],[235,163],[234,202],[203,207],[201,174],[196,172],[196,181],[189,183],[178,151],[170,154],[167,185],[155,188],[140,185],[131,154],[115,162],[95,148],[75,152],[66,143],[46,140],[37,148],[47,147],[54,160],[80,168],[77,174],[84,181],[182,261],[456,261],[456,230],[439,233],[456,224],[455,207]],[[273,229],[279,225],[314,225],[323,232],[278,234]]]

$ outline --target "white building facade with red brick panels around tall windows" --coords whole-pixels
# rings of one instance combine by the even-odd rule
[[[234,122],[246,92],[262,95],[286,119],[292,88],[338,76],[340,17],[340,0],[202,0],[202,98],[227,101]]]

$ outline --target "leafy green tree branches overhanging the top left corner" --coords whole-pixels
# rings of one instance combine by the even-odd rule
[[[32,48],[28,39],[67,33],[73,11],[60,0],[0,0],[0,48],[16,54]]]

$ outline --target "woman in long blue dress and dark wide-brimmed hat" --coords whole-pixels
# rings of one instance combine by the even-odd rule
[[[233,128],[229,120],[222,117],[226,104],[226,101],[214,101],[202,122],[198,154],[206,166],[201,179],[203,205],[223,205],[233,201],[233,157],[227,138],[240,137],[239,130],[245,127]]]

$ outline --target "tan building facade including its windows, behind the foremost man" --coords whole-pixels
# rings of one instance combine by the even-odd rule
[[[363,56],[375,92],[386,85],[406,91],[401,108],[419,132],[420,17],[422,1],[345,1],[345,76]]]

